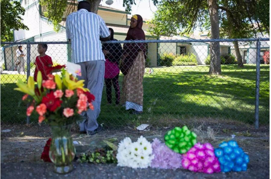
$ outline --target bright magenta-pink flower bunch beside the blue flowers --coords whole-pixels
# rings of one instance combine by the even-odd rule
[[[182,155],[182,167],[190,171],[209,174],[221,171],[220,163],[210,143],[197,143]]]

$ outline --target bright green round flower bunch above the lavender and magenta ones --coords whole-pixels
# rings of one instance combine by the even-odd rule
[[[167,147],[177,153],[186,153],[191,147],[197,143],[197,135],[191,132],[186,126],[175,127],[168,131],[165,136],[165,144]]]

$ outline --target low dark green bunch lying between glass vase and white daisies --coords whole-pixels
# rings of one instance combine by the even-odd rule
[[[77,162],[84,163],[117,163],[116,159],[117,152],[115,150],[96,149],[94,152],[88,151],[81,153]]]

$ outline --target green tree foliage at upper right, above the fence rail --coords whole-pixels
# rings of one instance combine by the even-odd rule
[[[269,34],[268,0],[218,0],[217,4],[221,37],[248,38],[256,36],[257,32]],[[210,30],[207,0],[162,0],[157,8],[149,22],[155,24],[149,29],[151,34],[184,35],[196,28]]]

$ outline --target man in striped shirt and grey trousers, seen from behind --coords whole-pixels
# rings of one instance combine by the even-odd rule
[[[101,130],[97,123],[104,86],[105,58],[101,41],[109,40],[110,32],[104,20],[90,11],[89,2],[80,1],[77,12],[66,19],[66,35],[71,41],[72,62],[81,66],[82,76],[78,78],[85,80],[85,87],[95,96],[94,110],[83,112],[84,120],[79,123],[80,132],[92,135]]]

